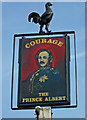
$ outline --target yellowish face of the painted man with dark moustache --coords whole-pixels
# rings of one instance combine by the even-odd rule
[[[49,54],[46,51],[43,51],[39,54],[38,56],[38,62],[40,64],[41,67],[44,67],[47,65],[48,63],[48,58],[49,58]]]

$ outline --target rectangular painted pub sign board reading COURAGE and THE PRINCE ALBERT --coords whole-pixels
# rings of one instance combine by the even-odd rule
[[[18,108],[70,104],[69,36],[19,40]]]

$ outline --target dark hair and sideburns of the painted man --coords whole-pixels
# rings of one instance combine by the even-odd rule
[[[38,60],[39,54],[40,54],[41,52],[43,52],[43,51],[45,51],[45,52],[47,52],[47,53],[49,54],[49,58],[48,58],[49,65],[52,65],[53,54],[52,54],[52,52],[51,52],[50,50],[48,50],[48,49],[40,49],[40,50],[36,53],[36,55],[35,55],[36,59]]]

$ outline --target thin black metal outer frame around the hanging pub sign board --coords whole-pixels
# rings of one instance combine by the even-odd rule
[[[76,40],[75,40],[75,31],[66,31],[66,32],[54,32],[54,33],[45,33],[45,34],[43,34],[43,35],[64,35],[64,36],[66,36],[66,38],[68,37],[67,36],[67,34],[73,34],[74,35],[74,47],[75,47],[75,82],[76,82],[76,105],[70,105],[70,104],[67,104],[67,105],[58,105],[58,106],[54,106],[54,105],[51,105],[51,107],[52,108],[69,108],[69,107],[77,107],[77,65],[76,65]],[[12,87],[11,87],[11,109],[13,110],[17,110],[17,109],[32,109],[32,108],[35,108],[35,106],[37,106],[37,105],[33,105],[33,107],[32,107],[32,105],[31,106],[22,106],[22,105],[19,105],[18,104],[18,107],[17,108],[13,108],[13,73],[14,73],[14,54],[15,54],[15,38],[16,37],[22,37],[22,39],[25,37],[25,36],[43,36],[42,34],[38,34],[38,33],[35,33],[35,34],[16,34],[16,35],[14,35],[14,43],[13,43],[13,65],[12,65]],[[67,44],[67,43],[66,43]],[[68,43],[69,44],[69,43]],[[67,48],[67,50],[68,49],[70,49],[70,48]],[[69,54],[67,54],[67,56],[68,55],[70,55],[70,53]],[[67,58],[70,58],[70,56],[68,56]],[[68,64],[68,67],[66,67],[67,68],[67,72],[69,71],[69,64]],[[21,68],[20,68],[21,69]],[[67,73],[67,75],[69,75],[68,73]],[[69,77],[69,76],[67,76],[67,77]],[[69,84],[68,84],[69,85]],[[68,87],[68,88],[70,88],[70,87]],[[69,91],[70,92],[70,91]],[[70,93],[67,93],[68,94],[68,96],[69,96],[69,94]],[[18,96],[18,99],[19,99],[19,96]],[[70,96],[68,97],[68,100],[70,99]],[[40,106],[50,106],[50,104],[40,104]]]

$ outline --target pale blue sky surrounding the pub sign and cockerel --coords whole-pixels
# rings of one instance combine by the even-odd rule
[[[78,107],[74,109],[53,109],[55,118],[84,118],[85,116],[85,3],[52,2],[54,12],[50,29],[57,31],[76,31]],[[29,23],[27,16],[36,11],[44,12],[44,2],[3,2],[2,3],[2,117],[35,118],[34,110],[12,111],[11,77],[13,36],[16,33],[39,31],[39,25]],[[17,44],[18,45],[18,44]],[[71,41],[72,46],[72,41]],[[73,47],[71,48],[73,49]],[[73,50],[71,50],[73,51]],[[17,59],[17,58],[16,58]],[[71,54],[73,61],[73,54]],[[72,62],[73,63],[73,62]],[[74,64],[71,64],[73,68]],[[17,71],[16,71],[17,72]],[[72,70],[71,70],[72,73]],[[16,75],[16,73],[15,73]],[[17,76],[17,75],[16,75]],[[72,76],[72,74],[71,74]],[[73,81],[73,76],[71,82]],[[73,93],[72,93],[73,94]]]

